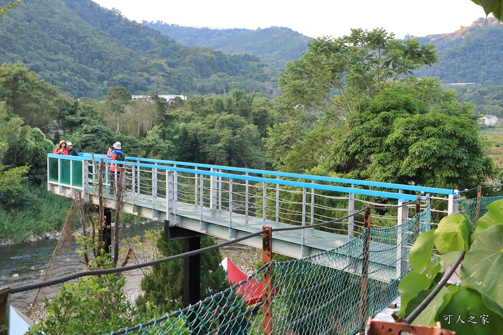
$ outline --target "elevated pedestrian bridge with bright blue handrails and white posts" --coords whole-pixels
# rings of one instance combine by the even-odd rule
[[[263,226],[319,224],[366,205],[384,207],[373,211],[372,228],[401,225],[413,215],[409,206],[385,207],[417,197],[423,209],[429,208],[431,198],[437,198],[445,199],[449,213],[457,212],[457,190],[137,157],[126,157],[123,162],[124,191],[109,194],[111,179],[119,176],[109,172],[112,161],[106,155],[91,154],[48,154],[48,190],[68,197],[81,192],[86,202],[98,204],[100,162],[105,207],[120,206],[124,212],[226,240],[261,231]],[[324,227],[275,233],[273,252],[303,258],[342,246],[364,231],[362,214]],[[373,248],[394,245],[401,253],[396,248],[401,237],[395,234],[391,240]],[[242,243],[262,248],[261,237]],[[370,266],[383,269],[380,280],[389,281],[400,277],[400,258],[375,258]]]

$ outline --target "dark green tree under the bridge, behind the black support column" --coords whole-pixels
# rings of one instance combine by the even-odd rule
[[[201,248],[215,245],[209,236],[201,239]],[[164,241],[162,234],[157,239],[157,248],[163,257],[183,253],[180,241]],[[201,254],[201,299],[228,287],[227,275],[220,265],[222,255],[219,249]],[[143,311],[146,302],[155,305],[161,313],[183,308],[183,259],[154,265],[152,272],[141,280],[140,295],[136,304]]]

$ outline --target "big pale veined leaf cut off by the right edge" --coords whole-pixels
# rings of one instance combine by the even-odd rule
[[[487,228],[466,253],[459,277],[503,307],[503,225]]]

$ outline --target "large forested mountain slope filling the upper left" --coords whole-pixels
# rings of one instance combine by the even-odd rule
[[[0,7],[10,0],[0,0]],[[130,93],[275,94],[276,70],[258,57],[184,46],[89,0],[23,1],[0,18],[0,64],[21,62],[73,97]]]

